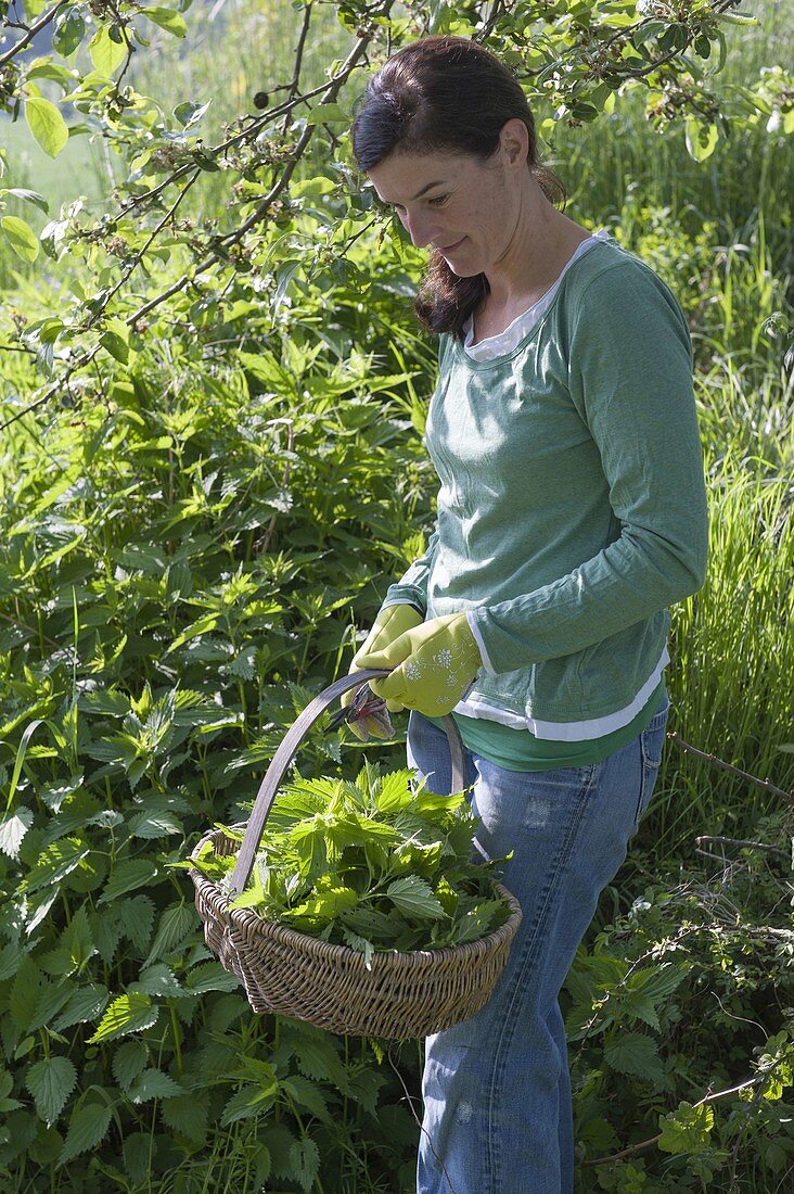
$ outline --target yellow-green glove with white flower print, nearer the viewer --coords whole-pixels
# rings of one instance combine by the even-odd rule
[[[358,661],[362,667],[393,669],[369,684],[389,709],[405,706],[429,718],[450,713],[482,666],[466,614],[433,617]]]

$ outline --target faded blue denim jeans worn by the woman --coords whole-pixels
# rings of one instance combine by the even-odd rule
[[[571,1082],[558,997],[657,777],[667,709],[602,763],[506,771],[466,752],[487,857],[523,919],[486,1007],[425,1048],[417,1194],[571,1194]],[[408,763],[451,786],[447,737],[411,714]]]

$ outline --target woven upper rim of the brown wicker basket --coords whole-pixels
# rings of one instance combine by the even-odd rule
[[[229,829],[235,831],[245,829],[245,823],[242,825],[230,825]],[[223,835],[223,829],[213,829],[204,833],[191,851],[190,857],[192,858],[205,842],[216,838],[218,835]],[[227,842],[239,849],[239,842],[234,842],[228,837]],[[236,853],[236,850],[230,853]],[[187,873],[193,881],[197,894],[201,894],[205,899],[216,904],[217,912],[223,915],[230,924],[235,924],[250,933],[253,931],[257,936],[276,940],[284,946],[297,949],[303,954],[312,955],[318,960],[326,962],[346,962],[353,967],[359,966],[370,975],[380,971],[410,968],[414,968],[417,971],[430,970],[439,964],[448,962],[450,956],[454,956],[461,962],[467,960],[475,962],[478,959],[484,958],[499,948],[503,943],[510,943],[522,919],[521,906],[516,897],[503,884],[494,881],[494,893],[500,899],[504,899],[510,909],[510,916],[504,924],[492,929],[491,933],[486,934],[484,937],[478,937],[476,941],[466,941],[460,946],[439,946],[437,949],[412,949],[408,952],[399,949],[376,949],[373,953],[370,965],[367,966],[367,958],[362,950],[353,949],[351,946],[340,946],[328,941],[320,941],[318,937],[313,937],[307,933],[301,933],[298,929],[291,929],[289,925],[281,924],[278,921],[267,921],[265,917],[254,912],[253,909],[229,907],[229,898],[221,892],[220,886],[214,882],[214,880],[202,875],[202,873],[195,867],[191,867]]]

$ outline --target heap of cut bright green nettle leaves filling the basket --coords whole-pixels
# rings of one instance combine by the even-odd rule
[[[253,872],[233,907],[251,907],[332,944],[365,954],[441,949],[503,924],[494,862],[474,863],[476,831],[464,793],[437,796],[411,771],[288,784],[263,835]],[[221,891],[234,854],[205,843],[191,866]]]

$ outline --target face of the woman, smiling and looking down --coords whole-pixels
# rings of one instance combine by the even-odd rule
[[[486,160],[393,153],[369,177],[418,248],[438,250],[454,273],[473,277],[498,269],[512,244],[529,174],[525,148],[517,160],[519,168],[504,144]]]

